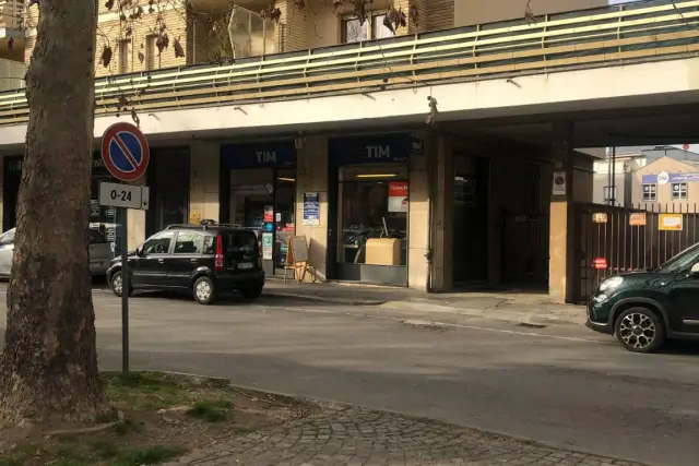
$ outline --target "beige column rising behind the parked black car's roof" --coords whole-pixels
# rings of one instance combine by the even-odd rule
[[[221,151],[216,143],[196,143],[190,147],[189,222],[204,218],[218,222]]]

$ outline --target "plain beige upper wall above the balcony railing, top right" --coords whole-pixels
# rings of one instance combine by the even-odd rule
[[[453,0],[454,26],[524,19],[528,0]],[[607,0],[531,0],[535,16],[606,7]]]

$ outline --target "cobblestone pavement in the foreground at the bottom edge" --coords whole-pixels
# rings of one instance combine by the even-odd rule
[[[357,407],[310,417],[191,453],[174,465],[579,465],[640,463],[553,449],[431,420]]]

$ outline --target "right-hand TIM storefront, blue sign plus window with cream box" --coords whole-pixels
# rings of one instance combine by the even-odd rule
[[[411,147],[408,134],[330,140],[330,278],[407,286]]]

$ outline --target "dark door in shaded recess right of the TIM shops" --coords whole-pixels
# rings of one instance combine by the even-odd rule
[[[488,279],[489,181],[490,163],[486,157],[454,156],[454,284]]]

